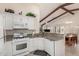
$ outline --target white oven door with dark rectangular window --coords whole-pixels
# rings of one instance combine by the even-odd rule
[[[27,53],[27,41],[20,41],[13,43],[13,55],[18,55],[21,53]]]

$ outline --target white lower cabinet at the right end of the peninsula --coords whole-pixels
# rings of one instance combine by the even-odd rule
[[[44,39],[44,48],[51,56],[64,56],[65,55],[65,40],[50,41]]]

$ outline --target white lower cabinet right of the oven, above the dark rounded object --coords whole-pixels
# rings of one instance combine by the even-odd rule
[[[29,42],[29,51],[44,50],[43,38],[31,38]]]

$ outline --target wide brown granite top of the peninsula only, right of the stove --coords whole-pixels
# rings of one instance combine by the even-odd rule
[[[56,34],[56,33],[38,33],[38,34],[34,34],[32,36],[32,38],[46,38],[50,41],[57,41],[57,40],[61,40],[64,39],[64,35],[63,34]]]

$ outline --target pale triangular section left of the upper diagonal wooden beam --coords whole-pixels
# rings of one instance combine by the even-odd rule
[[[40,20],[43,19],[46,15],[48,15],[61,4],[62,3],[38,3],[40,10]]]

